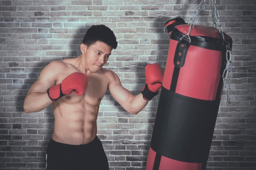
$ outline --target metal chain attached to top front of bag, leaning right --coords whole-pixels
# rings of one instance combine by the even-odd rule
[[[190,38],[189,34],[192,31],[192,29],[194,28],[195,22],[197,22],[198,16],[199,16],[200,12],[202,11],[202,9],[204,8],[204,4],[205,4],[205,0],[202,0],[200,2],[200,4],[195,8],[195,11],[193,12],[193,14],[189,18],[189,20],[186,22],[187,24],[190,24],[189,32],[186,35],[183,35],[183,37],[180,38],[180,40],[182,40],[184,37],[187,36],[189,38],[189,42],[191,42],[191,38]]]

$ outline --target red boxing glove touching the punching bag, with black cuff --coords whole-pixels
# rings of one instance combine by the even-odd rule
[[[148,64],[145,67],[145,77],[146,85],[142,89],[141,93],[145,100],[151,100],[155,95],[157,95],[160,88],[162,88],[164,71],[157,63]]]

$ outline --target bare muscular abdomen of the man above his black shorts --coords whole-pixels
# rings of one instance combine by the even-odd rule
[[[70,145],[88,144],[97,135],[99,100],[86,102],[84,96],[67,95],[53,103],[56,142]]]

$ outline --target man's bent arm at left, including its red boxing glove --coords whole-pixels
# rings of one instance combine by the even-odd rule
[[[76,95],[83,95],[88,86],[87,75],[65,72],[64,65],[60,61],[52,62],[43,69],[25,97],[25,113],[43,110],[53,101],[73,92]]]

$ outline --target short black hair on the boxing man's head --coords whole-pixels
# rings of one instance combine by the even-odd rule
[[[83,44],[90,46],[97,41],[104,42],[111,46],[113,49],[117,48],[117,38],[110,28],[101,25],[92,25],[85,33]]]

